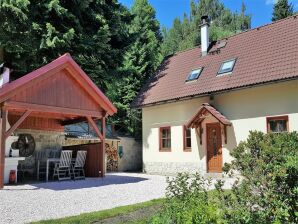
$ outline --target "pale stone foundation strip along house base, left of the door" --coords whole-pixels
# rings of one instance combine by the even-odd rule
[[[160,174],[160,175],[177,175],[177,173],[199,172],[205,174],[205,171],[198,163],[171,163],[171,162],[144,162],[143,172],[148,174]]]

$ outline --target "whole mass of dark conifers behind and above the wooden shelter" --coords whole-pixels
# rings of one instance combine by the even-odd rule
[[[147,0],[0,1],[0,64],[16,79],[69,52],[118,108],[124,133],[141,133],[130,103],[162,60],[159,22]],[[136,130],[137,129],[137,130]]]

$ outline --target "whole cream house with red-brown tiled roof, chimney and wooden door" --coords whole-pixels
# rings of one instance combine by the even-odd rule
[[[298,131],[298,18],[211,43],[202,22],[202,47],[167,58],[136,100],[145,172],[221,173],[249,131]]]

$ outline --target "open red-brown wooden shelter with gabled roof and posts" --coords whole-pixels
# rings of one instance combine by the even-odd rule
[[[5,140],[24,122],[42,128],[88,121],[101,140],[104,173],[106,117],[117,112],[69,54],[0,88],[0,189],[3,188]],[[8,117],[14,120],[7,130]],[[95,120],[101,120],[99,129]]]

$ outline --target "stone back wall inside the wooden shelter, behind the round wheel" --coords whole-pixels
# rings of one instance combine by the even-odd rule
[[[61,149],[65,141],[64,132],[17,129],[15,135],[30,134],[35,140],[35,152],[46,149]],[[35,157],[30,156],[19,162],[27,172],[34,174],[36,170]]]

